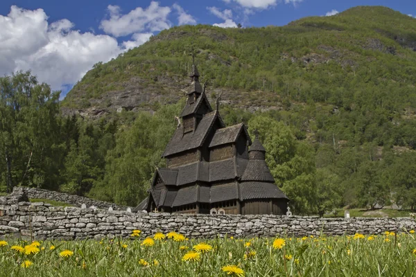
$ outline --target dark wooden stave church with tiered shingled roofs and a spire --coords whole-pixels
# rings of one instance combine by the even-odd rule
[[[187,104],[162,155],[167,168],[157,168],[135,211],[285,215],[288,198],[270,174],[263,145],[243,123],[225,126],[199,76],[193,65]]]

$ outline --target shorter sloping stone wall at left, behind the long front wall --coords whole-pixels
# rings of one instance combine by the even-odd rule
[[[82,197],[78,195],[70,195],[69,193],[59,193],[58,191],[42,190],[42,188],[15,187],[13,188],[12,194],[15,194],[16,190],[18,191],[23,190],[24,193],[26,193],[26,195],[29,197],[29,199],[31,198],[50,199],[54,201],[65,202],[65,203],[68,203],[77,207],[80,207],[83,204],[85,204],[87,207],[96,206],[97,208],[105,208],[105,209],[112,207],[116,211],[122,211],[122,210],[125,211],[125,209],[128,208],[127,206],[119,206],[116,204],[112,204],[110,202],[94,200],[91,198]]]

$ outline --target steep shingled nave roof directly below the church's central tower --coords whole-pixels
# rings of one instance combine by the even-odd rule
[[[193,132],[184,134],[184,127],[183,125],[180,125],[180,127],[176,129],[175,134],[173,134],[171,141],[169,141],[166,146],[162,157],[168,157],[172,154],[200,147],[207,138],[207,135],[216,120],[218,120],[220,125],[224,126],[223,120],[220,119],[220,116],[218,115],[218,111],[212,111],[209,114],[205,114],[196,127],[196,130]]]

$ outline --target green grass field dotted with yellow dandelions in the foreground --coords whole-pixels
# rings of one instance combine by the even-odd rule
[[[304,238],[0,241],[1,276],[415,276],[414,231]],[[159,240],[157,240],[159,239]]]

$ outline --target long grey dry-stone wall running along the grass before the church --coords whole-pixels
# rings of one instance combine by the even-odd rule
[[[343,235],[379,234],[384,231],[415,229],[410,217],[385,218],[318,218],[278,215],[187,215],[179,213],[130,213],[93,208],[55,207],[29,203],[26,195],[0,197],[0,237],[30,236],[44,239],[129,237],[139,229],[144,235],[157,231],[177,231],[187,237],[211,238],[274,237],[277,235]],[[25,201],[26,200],[26,201]]]

